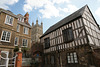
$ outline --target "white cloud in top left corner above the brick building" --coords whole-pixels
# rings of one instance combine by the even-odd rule
[[[2,0],[0,1],[0,8],[9,9],[8,5],[13,5],[17,3],[19,0]]]

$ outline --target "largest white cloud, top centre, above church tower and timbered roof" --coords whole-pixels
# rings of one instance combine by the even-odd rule
[[[25,0],[23,10],[38,10],[42,18],[59,17],[62,15],[61,12],[72,13],[77,10],[77,7],[70,3],[70,0]],[[63,5],[63,8],[59,5]]]

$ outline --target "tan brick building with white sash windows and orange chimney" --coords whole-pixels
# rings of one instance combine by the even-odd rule
[[[15,15],[9,10],[0,8],[0,50],[8,51],[13,56],[15,46],[31,47],[31,26],[29,14]]]

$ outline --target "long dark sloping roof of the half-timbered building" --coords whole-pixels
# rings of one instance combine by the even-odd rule
[[[57,28],[63,26],[64,24],[67,24],[70,21],[82,16],[86,7],[87,7],[87,5],[85,5],[81,9],[77,10],[76,12],[72,13],[71,15],[65,17],[64,19],[62,19],[58,23],[54,24],[53,26],[51,26],[40,38],[42,38],[43,36],[49,34],[52,31],[56,30]]]

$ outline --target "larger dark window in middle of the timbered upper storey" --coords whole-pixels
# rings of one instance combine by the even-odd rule
[[[72,28],[67,28],[62,31],[63,32],[63,41],[64,42],[71,42],[74,39]]]

